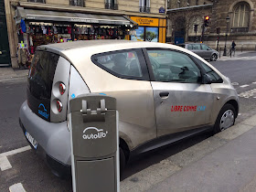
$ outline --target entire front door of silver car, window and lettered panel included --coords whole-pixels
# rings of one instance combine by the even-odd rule
[[[210,85],[201,83],[197,64],[187,54],[171,49],[144,51],[152,71],[157,136],[206,127],[213,94]]]

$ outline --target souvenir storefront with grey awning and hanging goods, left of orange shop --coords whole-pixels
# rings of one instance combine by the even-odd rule
[[[73,40],[128,39],[136,23],[126,16],[102,16],[17,7],[17,56],[27,67],[37,46]]]

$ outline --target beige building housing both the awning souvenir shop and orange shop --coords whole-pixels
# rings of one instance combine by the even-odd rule
[[[165,0],[5,0],[5,17],[13,68],[26,66],[37,46],[49,43],[165,42],[166,35]]]

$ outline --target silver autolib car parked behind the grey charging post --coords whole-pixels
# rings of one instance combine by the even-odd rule
[[[239,112],[229,78],[185,48],[125,40],[38,47],[20,125],[58,176],[70,173],[69,101],[85,93],[117,99],[121,168],[133,155],[223,131]]]

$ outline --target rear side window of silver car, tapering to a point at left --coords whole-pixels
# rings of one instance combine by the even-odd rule
[[[144,55],[140,49],[112,51],[92,56],[92,61],[113,75],[132,80],[148,80]]]

